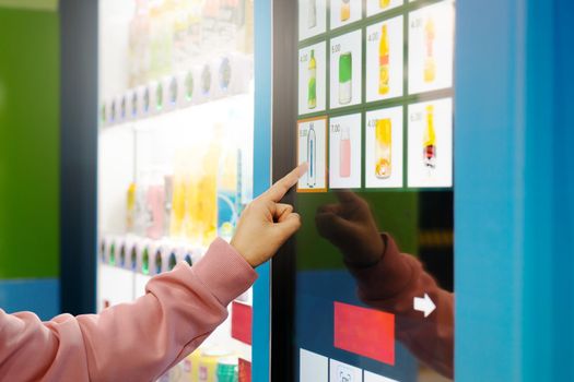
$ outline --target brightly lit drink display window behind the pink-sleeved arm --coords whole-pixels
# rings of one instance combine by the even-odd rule
[[[101,311],[231,239],[253,199],[253,1],[102,0],[98,29]],[[161,381],[249,381],[251,318],[248,290]]]

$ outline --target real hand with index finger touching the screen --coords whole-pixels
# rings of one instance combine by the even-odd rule
[[[301,217],[293,206],[279,202],[306,171],[306,164],[298,166],[243,212],[231,244],[253,267],[271,259],[301,227]]]

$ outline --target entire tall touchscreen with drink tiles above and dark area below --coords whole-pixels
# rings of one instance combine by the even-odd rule
[[[295,380],[452,379],[455,2],[297,14]]]

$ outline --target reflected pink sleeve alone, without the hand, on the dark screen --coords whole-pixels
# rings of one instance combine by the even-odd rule
[[[361,299],[396,314],[397,337],[421,361],[453,378],[454,295],[443,290],[412,255],[399,252],[385,235],[385,254],[371,267],[350,267]],[[427,294],[436,310],[426,319],[413,309],[413,298]]]

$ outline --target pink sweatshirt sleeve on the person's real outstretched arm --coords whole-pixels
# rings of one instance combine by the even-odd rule
[[[190,354],[255,282],[251,266],[215,240],[196,265],[153,277],[145,296],[101,314],[0,310],[0,380],[153,381]]]

